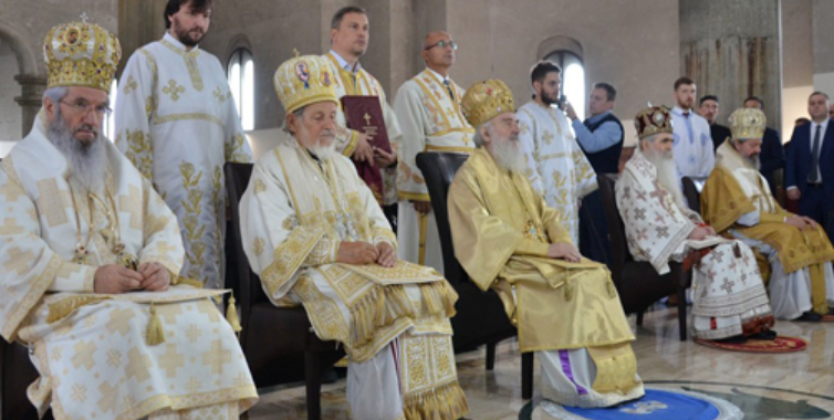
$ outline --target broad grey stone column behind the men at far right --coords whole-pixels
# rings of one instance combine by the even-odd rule
[[[718,123],[755,95],[768,125],[781,128],[781,0],[680,0],[679,13],[681,75],[698,98],[718,95]]]

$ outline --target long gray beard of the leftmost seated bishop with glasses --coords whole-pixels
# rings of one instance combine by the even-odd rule
[[[90,192],[101,192],[104,189],[104,176],[107,174],[107,154],[104,148],[106,139],[101,132],[95,140],[84,145],[75,137],[73,130],[63,119],[59,112],[55,119],[49,125],[46,138],[66,158],[70,175],[74,177],[82,188]]]

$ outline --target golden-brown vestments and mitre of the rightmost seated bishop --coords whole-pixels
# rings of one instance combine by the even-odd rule
[[[739,109],[731,123],[733,139],[762,138],[765,120],[759,109]],[[834,305],[834,249],[825,231],[788,224],[793,214],[779,206],[767,180],[731,141],[718,148],[717,159],[701,193],[703,219],[758,251],[762,273],[770,273],[763,277],[770,279],[778,318],[793,319],[812,309],[826,314]]]

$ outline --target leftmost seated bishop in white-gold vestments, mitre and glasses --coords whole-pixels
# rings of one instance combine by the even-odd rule
[[[0,170],[0,324],[32,354],[29,398],[55,419],[238,419],[258,393],[232,327],[177,284],[177,219],[102,134],[118,40],[66,23],[48,86]]]

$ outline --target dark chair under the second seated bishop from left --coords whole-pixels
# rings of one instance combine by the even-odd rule
[[[240,199],[249,185],[252,164],[226,164],[226,185],[231,207],[231,238],[226,252],[234,261],[236,270],[227,272],[226,287],[237,290],[240,303],[240,346],[247,357],[258,387],[282,380],[279,359],[288,355],[304,355],[304,380],[306,384],[307,419],[321,419],[322,368],[338,360],[343,353],[336,350],[335,342],[316,337],[303,307],[277,307],[252,273],[243,252],[240,234]]]

